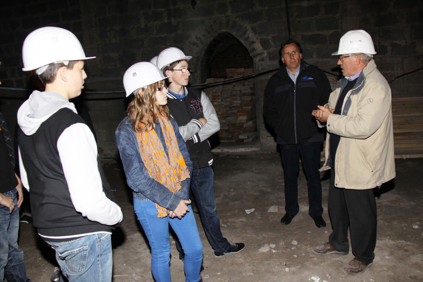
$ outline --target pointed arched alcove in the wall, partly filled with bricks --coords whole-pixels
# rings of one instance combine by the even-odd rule
[[[253,58],[231,33],[217,33],[201,60],[202,82],[253,74]],[[219,142],[249,142],[257,138],[254,79],[206,88],[220,120]]]

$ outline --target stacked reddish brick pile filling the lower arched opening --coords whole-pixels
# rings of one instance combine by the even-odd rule
[[[248,74],[253,74],[252,68],[226,69],[228,79]],[[207,82],[220,80],[223,79],[210,78]],[[207,88],[205,92],[220,121],[220,142],[250,142],[257,139],[254,79]]]

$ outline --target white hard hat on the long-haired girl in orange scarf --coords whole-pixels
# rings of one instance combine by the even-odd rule
[[[126,97],[135,94],[140,88],[146,87],[154,82],[163,80],[163,72],[156,65],[150,62],[140,62],[130,66],[124,74],[124,88]]]

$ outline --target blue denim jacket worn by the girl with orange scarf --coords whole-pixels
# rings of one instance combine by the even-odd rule
[[[175,131],[176,140],[178,141],[179,150],[184,157],[185,164],[190,170],[190,177],[192,175],[192,162],[190,154],[185,145],[184,139],[179,134],[178,125],[176,121],[171,118],[170,123]],[[168,156],[168,150],[165,145],[162,129],[158,121],[154,129],[162,142],[163,149]],[[126,175],[126,181],[133,190],[133,195],[136,199],[141,201],[153,201],[160,206],[174,211],[182,200],[188,200],[190,191],[191,178],[182,181],[181,189],[177,193],[171,192],[168,188],[163,186],[158,181],[151,178],[148,170],[143,164],[140,155],[140,148],[137,143],[137,133],[132,129],[132,119],[126,117],[119,123],[115,131],[116,143],[118,145],[119,153],[121,155],[122,164]]]

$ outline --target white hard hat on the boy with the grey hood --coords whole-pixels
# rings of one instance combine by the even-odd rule
[[[22,46],[23,71],[61,61],[86,60],[81,43],[73,33],[60,27],[41,27],[25,38]],[[46,67],[47,68],[47,67]],[[41,74],[45,70],[40,70]]]

